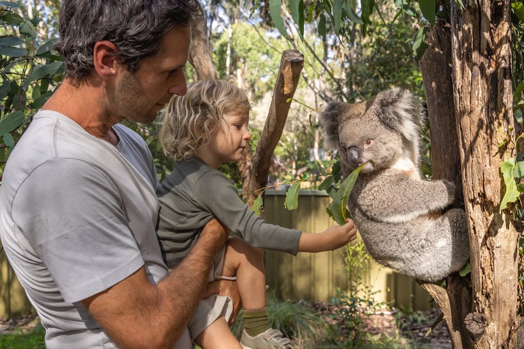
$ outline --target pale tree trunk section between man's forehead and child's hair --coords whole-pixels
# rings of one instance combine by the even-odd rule
[[[189,63],[194,67],[198,80],[216,80],[216,72],[208,40],[208,28],[204,17],[195,18],[191,22],[191,48]]]

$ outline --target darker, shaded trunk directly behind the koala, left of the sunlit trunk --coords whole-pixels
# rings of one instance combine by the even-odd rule
[[[420,60],[431,132],[433,179],[447,179],[457,185],[455,202],[462,202],[460,153],[457,142],[451,64],[450,27],[438,21],[427,33],[428,48]],[[463,206],[457,205],[457,206]],[[455,349],[472,348],[464,318],[471,308],[471,285],[458,273],[446,278],[446,288],[421,284],[444,314]]]

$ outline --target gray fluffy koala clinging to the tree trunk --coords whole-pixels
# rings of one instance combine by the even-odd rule
[[[427,181],[419,169],[424,113],[395,87],[357,104],[330,103],[321,114],[326,145],[342,173],[364,165],[348,200],[369,254],[423,282],[459,271],[470,257],[466,215],[452,204],[455,185]]]

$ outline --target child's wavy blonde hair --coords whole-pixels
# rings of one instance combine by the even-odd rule
[[[166,155],[188,160],[213,139],[232,111],[249,111],[247,94],[221,80],[199,80],[188,85],[184,96],[169,101],[160,129],[160,142]]]

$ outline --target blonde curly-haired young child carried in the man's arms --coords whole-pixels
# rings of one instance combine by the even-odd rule
[[[250,108],[247,95],[235,85],[196,81],[185,96],[172,97],[160,131],[164,151],[176,160],[158,193],[158,239],[168,267],[182,261],[213,217],[237,235],[217,256],[209,282],[236,277],[244,307],[241,344],[227,325],[227,297],[215,295],[202,300],[189,323],[193,341],[203,349],[292,348],[281,332],[269,328],[260,249],[293,255],[329,251],[356,236],[352,221],[318,234],[274,226],[242,202],[232,181],[217,168],[241,158],[251,138],[247,129]]]

